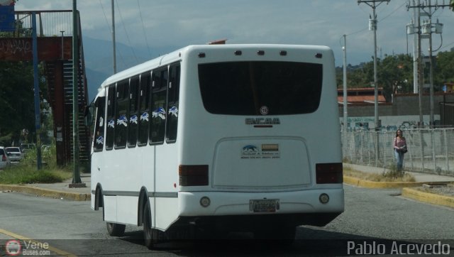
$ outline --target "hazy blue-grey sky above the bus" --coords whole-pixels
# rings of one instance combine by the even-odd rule
[[[131,53],[134,47],[152,53],[155,48],[177,50],[226,38],[229,44],[327,45],[333,49],[336,66],[341,66],[346,35],[348,64],[370,62],[374,55],[374,33],[368,30],[372,8],[357,0],[114,0],[114,4],[116,41],[131,46]],[[413,35],[406,35],[406,24],[414,9],[408,10],[408,4],[390,0],[377,6],[378,58],[412,53]],[[72,5],[73,0],[18,0],[15,8],[71,10]],[[77,9],[84,38],[112,40],[111,0],[79,0]],[[443,23],[443,33],[433,33],[433,50],[454,48],[454,12],[438,8],[431,13],[433,23]],[[428,39],[421,44],[423,55],[428,55]]]

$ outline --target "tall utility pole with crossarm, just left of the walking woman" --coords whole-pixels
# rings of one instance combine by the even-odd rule
[[[369,30],[374,31],[374,92],[375,92],[375,101],[374,101],[374,112],[375,112],[375,163],[378,163],[379,156],[379,140],[378,130],[380,128],[380,120],[378,118],[378,79],[377,79],[377,14],[375,9],[383,2],[389,3],[390,0],[358,0],[358,5],[365,3],[368,6],[372,7],[372,17],[369,18]]]

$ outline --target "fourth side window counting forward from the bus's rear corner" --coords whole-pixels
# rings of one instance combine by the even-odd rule
[[[133,77],[129,84],[129,128],[128,128],[128,147],[135,147],[138,134],[138,90],[139,77]]]

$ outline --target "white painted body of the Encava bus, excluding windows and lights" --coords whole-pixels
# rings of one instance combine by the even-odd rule
[[[241,55],[233,54],[237,50]],[[259,55],[260,51],[265,54]],[[184,217],[316,217],[326,213],[329,222],[343,212],[342,183],[316,182],[316,165],[342,163],[331,49],[312,45],[194,45],[119,72],[103,82],[101,91],[109,84],[175,62],[181,65],[177,140],[92,151],[92,209],[99,184],[106,192],[107,222],[137,224],[139,192],[145,189],[152,226],[161,230],[186,220]],[[217,62],[322,65],[319,107],[305,114],[211,113],[202,99],[199,69]],[[180,165],[207,165],[208,185],[180,185]],[[322,194],[329,196],[328,203],[321,203]],[[202,197],[211,200],[208,207],[201,207]],[[250,201],[258,199],[277,199],[279,209],[255,213]],[[316,224],[312,218],[305,221],[304,216],[297,216],[294,222]]]

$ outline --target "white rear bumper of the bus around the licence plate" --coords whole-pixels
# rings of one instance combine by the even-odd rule
[[[328,202],[321,202],[321,195]],[[209,198],[209,205],[201,202]],[[263,199],[277,200],[276,209],[257,212],[251,205]],[[292,224],[323,226],[344,210],[342,188],[292,192],[179,192],[179,217],[204,217],[203,220],[238,217],[238,219],[290,219]],[[206,199],[205,199],[206,202]],[[217,217],[217,218],[216,218]]]

